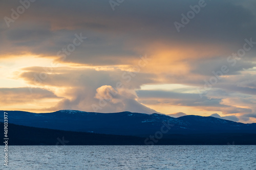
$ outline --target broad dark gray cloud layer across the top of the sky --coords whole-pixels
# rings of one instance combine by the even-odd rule
[[[191,10],[189,6],[197,5],[198,1],[132,0],[122,3],[116,11],[106,1],[37,1],[2,34],[7,35],[13,52],[24,50],[18,48],[20,45],[32,45],[35,48],[28,49],[32,53],[56,55],[59,48],[73,40],[75,33],[82,32],[90,37],[90,42],[84,42],[67,62],[84,64],[124,63],[120,58],[136,56],[137,48],[143,50],[156,41],[170,47],[179,44],[184,49],[205,42],[221,44],[231,53],[241,48],[245,38],[256,39],[255,15],[247,9],[248,2],[247,6],[238,1],[205,2],[207,5],[178,33],[174,21],[180,21],[181,14],[186,14]],[[18,5],[2,1],[1,15],[10,16],[10,9]],[[23,28],[24,23],[29,23],[27,29]],[[48,27],[38,29],[38,24]],[[67,35],[71,35],[69,40]]]

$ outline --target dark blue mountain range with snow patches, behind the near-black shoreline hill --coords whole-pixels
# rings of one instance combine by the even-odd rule
[[[166,135],[256,134],[256,123],[243,124],[211,116],[185,115],[174,118],[157,113],[95,113],[77,110],[59,110],[52,113],[5,112],[8,113],[10,124],[73,132],[145,137],[161,131],[161,128],[167,125]],[[0,116],[4,117],[3,114],[4,111],[0,111]]]

